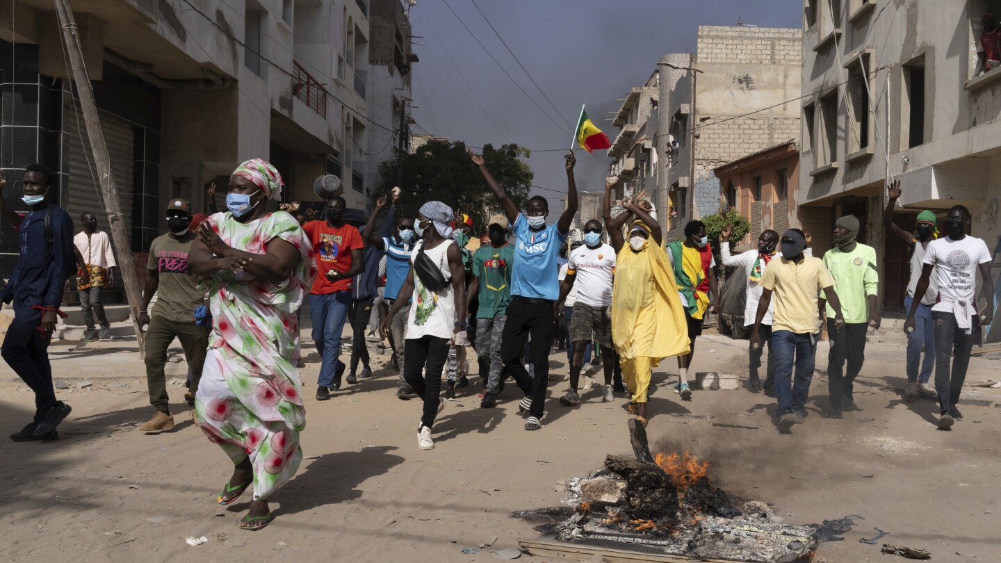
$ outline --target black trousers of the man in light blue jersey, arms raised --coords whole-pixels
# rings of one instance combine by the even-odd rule
[[[531,416],[542,418],[546,408],[546,389],[550,383],[550,343],[553,342],[553,302],[515,296],[508,306],[500,359],[508,373],[526,396],[532,397]],[[525,344],[532,336],[532,364],[536,377],[522,364]]]

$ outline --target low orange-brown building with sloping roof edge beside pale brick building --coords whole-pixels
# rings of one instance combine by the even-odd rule
[[[745,245],[756,243],[762,230],[771,228],[782,234],[801,225],[801,209],[796,204],[799,164],[799,147],[790,140],[713,170],[723,189],[725,207],[737,208],[751,221],[750,232],[741,240]],[[823,240],[814,242],[814,246],[823,244]]]

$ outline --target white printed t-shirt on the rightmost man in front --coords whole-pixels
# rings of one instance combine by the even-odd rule
[[[932,311],[951,313],[955,302],[976,305],[977,266],[990,262],[991,253],[981,238],[967,234],[962,240],[946,236],[928,243],[925,263],[935,264],[939,303]]]

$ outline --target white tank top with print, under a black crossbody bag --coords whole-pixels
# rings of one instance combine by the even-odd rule
[[[454,244],[452,240],[445,240],[424,251],[424,254],[438,265],[441,275],[446,279],[451,278],[451,270],[448,269],[448,246]],[[410,254],[410,265],[417,259],[417,252],[423,248],[423,240],[413,247]],[[431,292],[420,283],[420,277],[416,272],[413,274],[413,297],[411,298],[410,313],[406,321],[406,339],[416,340],[424,336],[437,337],[441,339],[452,338],[452,330],[455,327],[455,298],[448,284],[439,292]]]

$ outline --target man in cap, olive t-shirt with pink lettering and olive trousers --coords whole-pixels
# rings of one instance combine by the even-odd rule
[[[187,199],[171,199],[167,204],[169,232],[153,239],[146,261],[146,285],[142,292],[142,311],[139,327],[148,327],[146,333],[146,383],[149,386],[149,403],[156,409],[149,422],[139,425],[139,430],[159,434],[174,428],[170,415],[166,378],[163,367],[167,361],[167,348],[174,338],[181,342],[188,368],[191,370],[191,390],[185,395],[189,405],[194,404],[201,380],[201,367],[205,363],[210,327],[195,323],[194,310],[204,304],[205,293],[198,289],[197,280],[188,269],[188,250],[196,234],[188,226],[191,222],[191,203]],[[149,302],[156,294],[152,316],[147,315]]]

